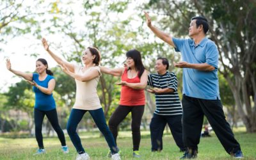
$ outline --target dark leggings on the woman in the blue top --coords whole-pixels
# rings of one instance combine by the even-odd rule
[[[38,143],[38,147],[40,149],[44,148],[43,136],[42,136],[42,124],[44,120],[44,116],[47,116],[50,121],[52,128],[58,134],[58,138],[61,142],[61,146],[66,145],[64,133],[58,122],[58,115],[56,109],[52,109],[50,111],[41,111],[39,109],[34,109],[34,119],[35,119],[35,132],[36,132],[36,141]]]

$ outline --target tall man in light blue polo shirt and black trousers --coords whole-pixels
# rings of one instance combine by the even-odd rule
[[[204,17],[193,17],[189,26],[190,38],[181,39],[160,31],[151,24],[145,12],[148,28],[164,42],[181,52],[182,61],[175,67],[183,68],[182,130],[183,142],[188,147],[181,159],[196,158],[204,115],[226,152],[243,158],[239,143],[225,119],[218,84],[218,49],[205,34],[209,26]]]

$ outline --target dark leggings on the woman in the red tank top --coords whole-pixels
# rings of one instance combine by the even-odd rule
[[[117,127],[124,120],[124,118],[132,113],[132,143],[133,150],[139,150],[140,147],[140,124],[141,118],[144,113],[144,105],[142,106],[122,106],[119,105],[118,108],[114,111],[113,115],[110,117],[108,125],[109,129],[112,132],[115,141],[118,134]]]

